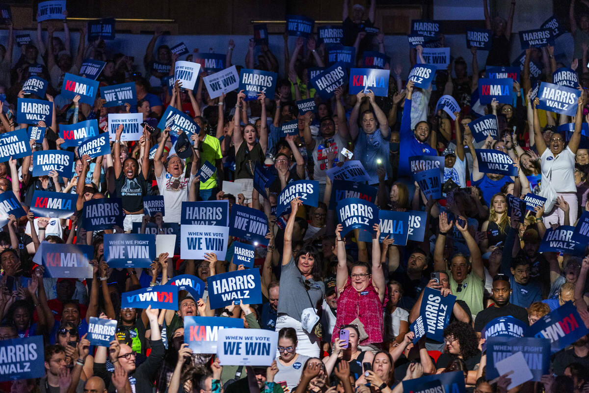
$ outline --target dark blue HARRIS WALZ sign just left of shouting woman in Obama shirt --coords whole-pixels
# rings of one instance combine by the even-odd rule
[[[85,230],[112,229],[115,225],[122,228],[123,218],[120,198],[100,198],[84,202],[82,225]]]

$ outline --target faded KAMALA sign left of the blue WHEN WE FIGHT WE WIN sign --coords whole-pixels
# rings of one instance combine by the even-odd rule
[[[92,246],[43,243],[41,252],[45,277],[82,280],[92,277]]]

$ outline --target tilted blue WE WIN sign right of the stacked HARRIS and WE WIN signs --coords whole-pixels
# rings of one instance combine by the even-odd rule
[[[257,242],[264,246],[268,245],[269,240],[266,239],[268,220],[264,212],[251,207],[233,204],[229,222],[231,223],[229,235],[254,244]]]

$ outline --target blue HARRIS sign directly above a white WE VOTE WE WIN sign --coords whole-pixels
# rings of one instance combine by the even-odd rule
[[[234,207],[234,206],[233,206]],[[182,202],[180,224],[228,226],[228,200],[201,200]],[[264,233],[264,235],[266,235]]]

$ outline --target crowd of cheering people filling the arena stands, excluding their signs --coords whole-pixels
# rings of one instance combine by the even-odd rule
[[[492,18],[487,0],[483,5],[492,31],[486,65],[509,66],[515,0],[507,12],[499,10],[508,14],[507,20]],[[343,1],[342,44],[356,48],[358,64],[363,51],[385,51],[385,35],[365,31],[374,26],[375,12],[375,0],[366,8]],[[42,143],[31,140],[32,151],[73,151],[75,166],[74,176],[67,179],[55,171],[32,176],[31,156],[0,163],[1,192],[12,191],[27,213],[2,217],[8,223],[0,232],[0,340],[40,335],[45,343],[44,377],[0,382],[0,391],[398,393],[403,381],[462,371],[467,391],[507,392],[509,375],[487,378],[487,323],[511,316],[530,326],[573,302],[589,326],[589,256],[539,251],[547,231],[573,227],[589,210],[589,144],[583,131],[589,123],[588,12],[586,2],[571,1],[569,30],[575,49],[565,54],[570,63],[558,63],[550,45],[525,50],[512,104],[494,100],[484,107],[484,114],[496,115],[497,138],[480,142],[469,128],[481,115],[471,94],[485,77],[476,48],[471,49],[470,75],[466,60],[455,58],[447,70],[436,72],[430,88],[418,88],[406,80],[409,70],[395,66],[395,57],[404,55],[397,51],[388,53],[392,60],[385,65],[390,70],[388,96],[376,97],[370,90],[347,94],[342,85],[330,100],[322,100],[309,84],[309,69],[326,67],[326,48],[313,35],[297,38],[292,53],[286,35],[284,47],[272,49],[253,39],[231,39],[226,67],[237,63],[238,71],[254,68],[279,75],[274,97],[260,92],[257,100],[246,100],[243,91],[210,98],[204,70],[194,91],[178,83],[168,90],[162,78],[174,74],[174,62],[191,61],[193,55],[181,58],[167,45],[158,45],[159,31],[146,48],[147,74],[142,75],[138,59],[110,54],[102,39],[87,43],[85,29],[72,54],[67,19],[64,40],[54,36],[61,22],[39,22],[37,39],[19,49],[8,25],[8,41],[0,45],[0,132],[47,127]],[[232,58],[236,45],[249,45],[241,64]],[[412,65],[425,62],[422,45],[410,51]],[[284,55],[284,69],[279,55]],[[65,74],[79,74],[87,58],[106,62],[97,77],[101,86],[134,82],[137,104],[105,107],[100,94],[93,105],[80,102],[79,96],[64,97]],[[531,76],[531,62],[541,65],[537,78]],[[532,99],[534,82],[551,82],[557,68],[568,66],[580,84],[576,115],[539,109],[538,98]],[[49,82],[45,97],[22,91],[32,75]],[[444,94],[460,106],[455,120],[436,109]],[[49,101],[52,118],[16,123],[18,98]],[[296,101],[308,98],[315,99],[316,113],[297,110]],[[182,130],[157,128],[170,105],[200,127],[200,133],[190,136],[187,158],[178,156],[174,145]],[[112,153],[104,156],[80,157],[77,148],[62,147],[60,124],[96,119],[101,132],[108,132],[108,114],[130,112],[143,114],[146,126],[139,140],[121,141],[121,126],[111,141]],[[298,120],[299,132],[280,138],[282,124],[292,120]],[[558,131],[568,123],[573,123],[566,128],[570,131]],[[507,153],[517,176],[483,172],[477,149]],[[360,240],[358,229],[342,235],[335,213],[339,200],[327,171],[349,161],[347,151],[368,174],[363,186],[375,190],[373,202],[380,210],[425,213],[422,239],[409,239],[406,245],[399,245],[395,236],[382,240],[378,224],[372,240]],[[426,198],[413,180],[413,156],[444,157],[441,199]],[[197,175],[206,161],[215,172],[201,181]],[[267,195],[254,187],[256,164],[276,179],[267,185]],[[299,180],[318,182],[319,203],[306,206],[294,198],[290,213],[276,217],[279,194]],[[233,182],[241,192],[224,192],[223,181]],[[69,219],[35,216],[29,208],[38,190],[77,194],[75,214]],[[509,209],[509,195],[523,199],[528,193],[548,196],[547,202],[521,214]],[[150,217],[143,198],[155,195],[163,196],[165,215]],[[84,204],[111,197],[121,199],[123,226],[85,230],[80,218]],[[146,227],[167,233],[168,223],[180,223],[182,202],[203,200],[229,200],[230,209],[242,205],[266,213],[269,245],[256,244],[253,267],[260,269],[263,303],[211,309],[206,290],[198,299],[180,291],[177,311],[121,308],[123,293],[165,285],[177,275],[206,282],[210,276],[243,269],[231,253],[225,260],[214,254],[191,260],[163,253],[150,268],[124,269],[105,262],[105,234],[145,233]],[[230,236],[229,248],[235,240],[244,241]],[[93,275],[85,280],[48,278],[41,259],[33,261],[44,242],[92,246]],[[421,315],[426,288],[456,296],[442,341],[424,335],[414,342],[416,332],[410,326]],[[310,327],[303,318],[309,308],[319,316]],[[243,367],[221,364],[215,354],[194,353],[184,342],[186,316],[241,318],[248,329],[278,332],[275,362]],[[91,317],[117,321],[117,339],[110,346],[90,345]],[[550,371],[541,381],[509,391],[587,392],[587,366],[589,335],[552,354]]]

